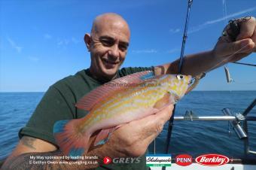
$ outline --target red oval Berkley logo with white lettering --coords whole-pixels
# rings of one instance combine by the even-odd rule
[[[201,155],[201,156],[198,156],[195,160],[197,163],[201,165],[207,165],[207,166],[224,165],[227,162],[230,162],[230,159],[227,156],[218,155],[218,154]]]

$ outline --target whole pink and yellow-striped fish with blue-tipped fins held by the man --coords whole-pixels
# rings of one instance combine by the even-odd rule
[[[94,146],[105,144],[111,132],[133,120],[156,114],[174,105],[186,93],[190,75],[141,71],[111,80],[82,97],[75,106],[89,113],[80,119],[59,120],[53,135],[67,156],[83,156],[89,141],[99,131]]]

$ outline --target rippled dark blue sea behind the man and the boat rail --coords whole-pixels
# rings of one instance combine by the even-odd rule
[[[18,132],[26,125],[44,93],[0,93],[0,160],[5,159],[19,141]],[[256,98],[256,91],[193,91],[178,102],[175,116],[192,111],[197,116],[223,116],[223,108],[242,113]],[[256,107],[248,116],[256,117]],[[172,156],[219,153],[230,158],[255,156],[244,153],[244,141],[228,121],[174,121],[168,153]],[[156,139],[156,153],[165,153],[168,123]],[[256,122],[248,122],[250,150],[256,150]],[[153,144],[149,147],[153,153]]]

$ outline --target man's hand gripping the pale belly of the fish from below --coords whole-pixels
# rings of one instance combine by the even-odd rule
[[[157,114],[134,120],[115,130],[108,142],[102,145],[102,150],[107,150],[105,156],[142,156],[148,145],[163,130],[163,125],[172,116],[172,110],[173,105],[169,105]]]

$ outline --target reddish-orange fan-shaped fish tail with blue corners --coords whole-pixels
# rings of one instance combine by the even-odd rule
[[[59,120],[54,124],[54,138],[66,156],[83,156],[89,149],[90,134],[79,131],[80,123],[81,120]]]

